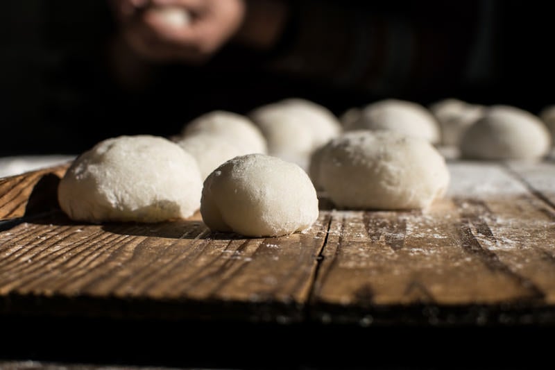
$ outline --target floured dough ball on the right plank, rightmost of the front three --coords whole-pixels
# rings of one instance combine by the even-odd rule
[[[320,180],[339,208],[423,209],[445,194],[450,174],[437,149],[395,131],[350,131],[323,149]]]

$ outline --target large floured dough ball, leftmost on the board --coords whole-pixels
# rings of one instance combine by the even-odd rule
[[[158,222],[193,215],[202,186],[196,161],[177,144],[119,136],[74,160],[58,185],[58,202],[76,221]]]

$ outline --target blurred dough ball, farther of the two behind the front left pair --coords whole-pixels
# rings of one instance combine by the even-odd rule
[[[193,119],[183,128],[182,135],[196,133],[220,135],[237,146],[241,154],[266,153],[266,139],[247,117],[225,110],[214,110]]]

